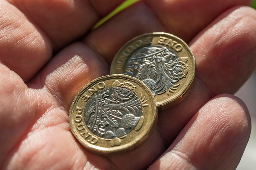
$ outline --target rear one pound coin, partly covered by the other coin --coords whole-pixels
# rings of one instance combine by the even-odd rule
[[[195,76],[189,46],[169,33],[147,33],[127,42],[112,61],[110,74],[140,79],[162,109],[181,102]]]

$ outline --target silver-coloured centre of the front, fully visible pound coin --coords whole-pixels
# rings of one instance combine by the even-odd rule
[[[127,135],[141,117],[138,97],[126,88],[112,87],[96,93],[85,106],[85,123],[98,137]]]

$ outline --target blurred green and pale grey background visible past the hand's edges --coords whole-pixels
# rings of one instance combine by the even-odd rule
[[[136,1],[137,0],[126,0],[105,19],[97,23],[94,28],[108,20],[108,18],[111,18],[113,15],[127,7],[129,4],[132,4]],[[253,0],[251,6],[256,9],[256,0]],[[253,75],[235,95],[245,102],[252,118],[251,136],[243,157],[236,170],[256,170],[256,71],[254,71]]]

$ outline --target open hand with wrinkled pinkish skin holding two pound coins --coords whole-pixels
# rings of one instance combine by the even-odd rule
[[[0,1],[0,169],[235,170],[251,124],[231,94],[256,67],[256,11],[249,0],[218,1],[140,0],[93,31],[121,0]],[[155,31],[189,44],[191,92],[159,112],[136,150],[103,157],[83,149],[68,119],[76,93],[109,74],[125,42]]]

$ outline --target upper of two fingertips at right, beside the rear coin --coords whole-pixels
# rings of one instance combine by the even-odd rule
[[[252,28],[255,20],[255,9],[232,8],[191,43],[199,76],[213,95],[235,93],[254,71],[256,30]]]

